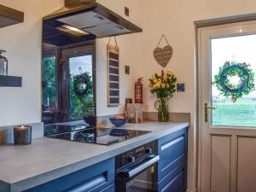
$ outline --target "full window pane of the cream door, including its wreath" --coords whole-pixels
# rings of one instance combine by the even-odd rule
[[[256,34],[212,38],[212,125],[256,127]]]

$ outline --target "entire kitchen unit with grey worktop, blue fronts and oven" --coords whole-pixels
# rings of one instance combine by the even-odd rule
[[[188,127],[128,124],[131,136],[135,131],[148,134],[110,146],[49,137],[28,146],[5,145],[0,149],[0,191],[184,192]]]

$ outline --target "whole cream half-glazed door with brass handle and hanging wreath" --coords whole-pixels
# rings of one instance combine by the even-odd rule
[[[198,39],[201,192],[256,191],[256,21]]]

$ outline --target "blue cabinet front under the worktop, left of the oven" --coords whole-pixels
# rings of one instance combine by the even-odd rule
[[[44,183],[26,192],[114,192],[114,158]]]

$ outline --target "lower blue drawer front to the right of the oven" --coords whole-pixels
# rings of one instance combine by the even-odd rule
[[[159,184],[159,192],[185,192],[186,191],[186,165],[179,165],[169,175],[167,175]]]

